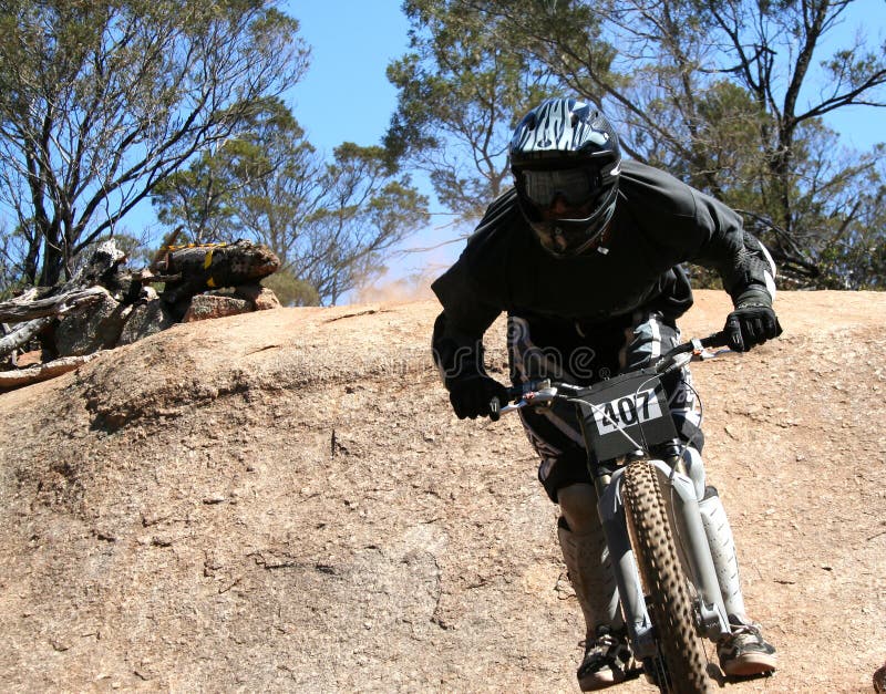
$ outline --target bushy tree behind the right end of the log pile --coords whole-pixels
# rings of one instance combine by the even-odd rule
[[[158,217],[182,225],[194,241],[265,244],[282,272],[334,303],[426,224],[427,200],[382,147],[344,143],[324,163],[281,101],[255,106],[249,130],[157,186]],[[298,294],[312,301],[303,287]]]

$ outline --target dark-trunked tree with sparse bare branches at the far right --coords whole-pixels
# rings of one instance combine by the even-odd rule
[[[835,133],[822,116],[851,105],[886,105],[886,44],[872,51],[856,35],[852,44],[820,56],[825,38],[851,3],[708,0],[699,7],[669,0],[625,6],[635,44],[653,50],[659,60],[667,56],[663,62],[671,69],[659,82],[663,89],[658,99],[681,114],[686,128],[677,132],[690,143],[687,159],[696,182],[734,206],[740,207],[742,198],[751,200],[749,209],[774,222],[781,232],[762,232],[763,237],[789,279],[802,284],[845,280],[832,275],[824,253],[846,238],[844,230],[861,209],[853,198],[876,162],[874,153],[841,155]],[[687,28],[696,34],[689,37]],[[810,84],[816,56],[822,69],[818,90]],[[743,107],[725,112],[731,118],[722,117],[723,110],[705,111],[727,79],[733,91],[746,95]],[[717,168],[715,159],[714,166],[705,162],[710,134],[729,132],[732,120],[751,124],[756,133],[755,146],[743,149],[745,175],[740,177]],[[645,130],[653,125],[635,122]],[[668,133],[662,135],[667,141]],[[671,142],[670,149],[678,149],[679,143]]]

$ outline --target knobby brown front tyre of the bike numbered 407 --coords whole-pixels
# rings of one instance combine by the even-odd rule
[[[628,465],[621,497],[658,643],[658,656],[647,663],[650,674],[662,692],[710,692],[708,659],[696,634],[692,603],[656,468],[647,460]]]

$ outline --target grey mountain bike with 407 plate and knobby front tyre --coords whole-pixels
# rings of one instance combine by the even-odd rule
[[[680,344],[651,366],[590,386],[550,380],[509,390],[499,414],[573,403],[588,450],[598,510],[636,659],[662,692],[710,691],[700,640],[731,633],[693,481],[681,455],[650,449],[679,441],[661,379],[725,346],[723,332]],[[679,541],[678,541],[679,540]]]

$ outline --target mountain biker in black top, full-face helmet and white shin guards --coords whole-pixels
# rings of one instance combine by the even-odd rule
[[[681,263],[714,269],[732,298],[730,346],[746,351],[781,333],[772,309],[775,267],[736,213],[673,176],[622,160],[618,136],[594,106],[550,99],[519,122],[509,146],[514,187],[487,208],[459,260],[434,283],[443,311],[433,355],[460,418],[497,418],[504,385],[483,365],[483,334],[508,317],[515,384],[536,377],[587,385],[646,365],[679,342],[677,319],[692,305]],[[682,455],[702,505],[732,634],[718,644],[728,675],[775,669],[775,650],[744,608],[734,541],[722,504],[704,480],[703,435],[688,370],[666,379]],[[625,680],[627,630],[597,514],[587,453],[564,406],[521,410],[540,457],[538,477],[560,517],[557,535],[586,621],[583,691]]]

